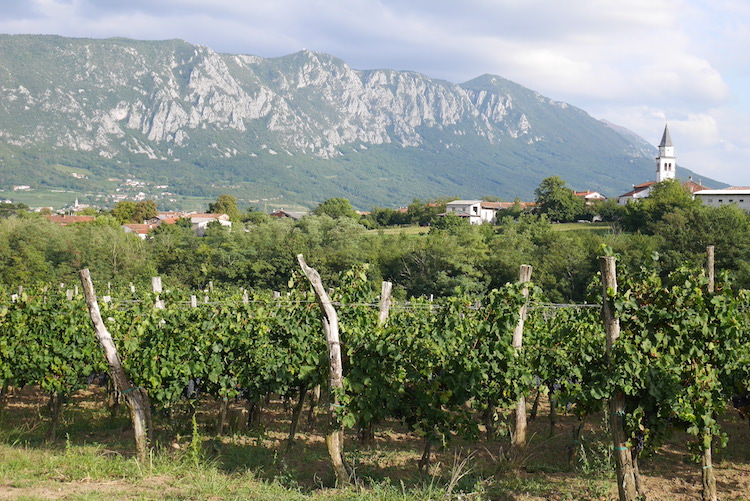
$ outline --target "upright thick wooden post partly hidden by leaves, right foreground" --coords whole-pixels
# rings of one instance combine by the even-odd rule
[[[602,272],[602,319],[607,333],[607,364],[611,366],[611,352],[617,338],[620,337],[620,319],[617,318],[612,304],[612,296],[617,294],[617,268],[614,256],[599,258]],[[609,413],[612,423],[612,441],[614,443],[615,468],[617,470],[617,491],[620,501],[635,501],[638,489],[633,471],[633,457],[627,447],[623,421],[625,417],[625,394],[615,390],[609,399]]]

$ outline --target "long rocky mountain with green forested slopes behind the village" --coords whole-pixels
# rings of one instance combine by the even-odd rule
[[[0,35],[0,189],[103,193],[131,179],[181,195],[370,208],[530,199],[558,175],[612,196],[650,180],[655,155],[499,76],[453,84],[310,51]]]

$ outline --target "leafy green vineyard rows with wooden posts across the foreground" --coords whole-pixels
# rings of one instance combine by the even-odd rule
[[[348,455],[373,447],[385,427],[419,440],[419,461],[404,468],[424,475],[435,454],[459,443],[494,444],[494,461],[522,468],[535,439],[526,413],[536,416],[542,402],[550,433],[560,414],[573,417],[564,439],[570,469],[591,453],[586,423],[604,420],[620,499],[656,494],[646,492],[639,464],[675,434],[690,437],[703,499],[743,499],[737,486],[717,487],[712,458],[734,438],[723,416],[750,404],[750,295],[703,269],[660,274],[657,261],[609,280],[602,273],[589,303],[567,305],[545,302],[533,277],[484,297],[391,301],[366,267],[344,273],[330,298],[305,274],[284,294],[100,284],[107,297],[97,308],[127,387],[111,377],[84,288],[5,290],[1,404],[25,388],[44,395],[54,441],[66,403],[99,386],[113,416],[144,399],[149,448],[192,433],[194,450],[206,445],[201,437],[257,435],[283,408],[289,429],[279,454],[295,449],[302,422],[317,422],[320,435],[340,433],[340,465],[328,445],[336,474],[327,486],[367,489]],[[316,413],[327,417],[315,421]]]

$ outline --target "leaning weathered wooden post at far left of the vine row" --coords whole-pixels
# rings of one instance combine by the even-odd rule
[[[148,394],[143,388],[134,388],[127,374],[125,374],[125,370],[122,368],[120,356],[117,354],[117,347],[102,320],[89,270],[81,270],[80,275],[81,283],[83,284],[83,293],[86,296],[86,305],[89,308],[91,321],[94,324],[94,331],[96,332],[96,337],[99,339],[99,344],[104,350],[104,356],[109,365],[109,375],[115,383],[115,388],[125,398],[128,408],[130,408],[138,460],[145,462],[148,459]]]

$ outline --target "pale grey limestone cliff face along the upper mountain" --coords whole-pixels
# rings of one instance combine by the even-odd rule
[[[52,85],[23,72],[2,78],[6,110],[48,117],[25,130],[2,127],[14,143],[50,141],[110,158],[121,150],[169,156],[179,155],[195,131],[243,133],[256,123],[273,133],[278,148],[330,157],[348,144],[419,146],[424,129],[493,143],[534,128],[523,114],[508,120],[510,95],[412,72],[357,71],[310,51],[263,59],[184,42],[52,42],[41,38],[35,47],[40,67],[62,70]]]

